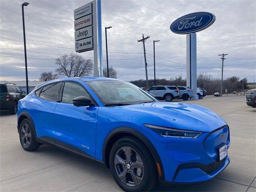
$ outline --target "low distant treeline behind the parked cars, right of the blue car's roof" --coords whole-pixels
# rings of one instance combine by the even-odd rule
[[[146,80],[140,79],[131,81],[132,84],[135,84],[139,87],[146,86]],[[242,91],[244,84],[244,90],[248,89],[247,78],[240,79],[240,77],[232,76],[226,78],[223,81],[223,92],[225,89],[228,89],[228,92],[233,91]],[[156,79],[156,85],[174,85],[174,86],[186,86],[186,79],[183,79],[181,76],[167,79]],[[148,86],[154,86],[154,79],[148,80]],[[221,80],[217,78],[212,78],[210,74],[200,73],[197,76],[197,87],[204,88],[207,90],[207,94],[213,94],[214,92],[220,92]]]

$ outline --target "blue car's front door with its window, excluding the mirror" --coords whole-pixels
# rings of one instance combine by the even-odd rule
[[[55,144],[84,156],[95,157],[98,106],[94,102],[95,106],[76,107],[72,100],[78,96],[86,96],[94,102],[81,84],[64,82],[54,112]]]

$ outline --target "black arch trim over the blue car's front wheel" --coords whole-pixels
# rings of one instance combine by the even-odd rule
[[[160,166],[160,173],[158,171],[158,178],[159,180],[165,180],[165,176],[164,176],[164,167],[162,165],[162,160],[156,150],[156,148],[154,147],[154,145],[150,142],[150,140],[148,138],[146,138],[146,136],[144,136],[141,132],[130,128],[130,127],[119,127],[116,128],[114,130],[112,130],[108,136],[106,137],[105,141],[104,141],[104,146],[103,146],[103,150],[102,150],[102,162],[106,164],[106,166],[109,168],[109,164],[106,163],[106,150],[107,150],[107,145],[108,142],[110,141],[110,139],[117,135],[117,134],[130,134],[138,139],[140,139],[145,145],[146,147],[150,150],[150,153],[152,154],[152,157],[155,161],[155,165],[157,168],[157,163]]]

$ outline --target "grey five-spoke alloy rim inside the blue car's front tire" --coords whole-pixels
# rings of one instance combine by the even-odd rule
[[[127,186],[138,186],[144,177],[144,165],[138,152],[124,146],[117,150],[114,166],[117,176]]]

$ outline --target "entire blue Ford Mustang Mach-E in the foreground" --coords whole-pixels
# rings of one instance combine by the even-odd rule
[[[50,144],[110,168],[126,191],[214,178],[230,159],[227,123],[201,106],[158,102],[110,78],[62,78],[18,103],[22,148]]]

